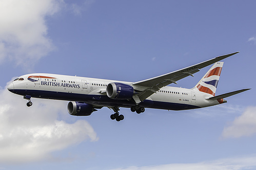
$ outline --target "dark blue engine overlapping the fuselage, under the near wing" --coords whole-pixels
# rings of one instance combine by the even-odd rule
[[[107,96],[110,99],[131,99],[134,94],[132,86],[124,83],[109,83],[107,86]]]

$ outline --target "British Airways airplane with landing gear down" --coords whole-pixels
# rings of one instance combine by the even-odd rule
[[[32,106],[31,98],[71,101],[67,110],[70,115],[89,116],[92,112],[108,107],[114,111],[112,120],[119,122],[124,115],[120,107],[130,108],[138,114],[145,108],[165,110],[189,110],[226,103],[223,98],[249,90],[241,89],[215,95],[224,62],[220,62],[239,52],[185,67],[168,74],[139,82],[125,82],[86,77],[28,74],[18,77],[7,86],[12,93],[23,95]],[[214,64],[213,64],[214,63]],[[193,88],[167,86],[192,76],[200,69],[213,64],[205,76]]]

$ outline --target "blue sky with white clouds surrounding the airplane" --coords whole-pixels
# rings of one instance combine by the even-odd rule
[[[0,1],[0,169],[254,169],[254,1]],[[188,111],[67,113],[6,85],[32,72],[136,82],[216,56],[228,103]],[[210,67],[180,80],[192,88]],[[174,86],[174,85],[173,85]]]

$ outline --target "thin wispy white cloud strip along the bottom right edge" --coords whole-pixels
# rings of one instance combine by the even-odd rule
[[[230,159],[221,159],[208,162],[199,162],[199,163],[173,163],[173,164],[164,164],[164,165],[153,165],[153,166],[131,166],[126,168],[117,168],[122,170],[241,170],[241,169],[255,169],[256,168],[256,157],[241,157],[241,158],[230,158]],[[117,170],[115,169],[115,170]]]

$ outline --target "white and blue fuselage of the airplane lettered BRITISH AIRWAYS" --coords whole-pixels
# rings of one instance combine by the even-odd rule
[[[84,102],[95,108],[97,106],[131,107],[135,105],[132,100],[110,99],[106,94],[109,83],[117,82],[133,86],[132,82],[53,74],[29,74],[21,76],[19,79],[13,81],[8,89],[23,96]],[[145,108],[187,110],[220,104],[217,100],[206,100],[211,96],[213,95],[195,89],[166,86],[139,105]]]

